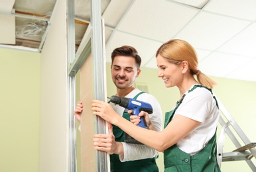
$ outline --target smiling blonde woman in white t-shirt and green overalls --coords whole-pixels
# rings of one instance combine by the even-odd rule
[[[211,90],[216,83],[198,69],[196,52],[184,40],[169,40],[156,56],[158,76],[166,87],[176,86],[180,91],[180,100],[165,114],[162,132],[134,125],[139,122],[137,116],[131,116],[131,124],[102,101],[93,101],[94,114],[139,142],[164,151],[164,171],[220,171],[216,159],[219,110]],[[148,128],[154,128],[146,112],[139,116],[145,116]]]

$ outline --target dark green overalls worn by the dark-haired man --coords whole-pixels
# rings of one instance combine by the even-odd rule
[[[139,95],[141,95],[141,92],[137,94],[133,99],[137,99]],[[127,112],[123,112],[123,118],[130,120],[130,115]],[[124,142],[125,140],[125,132],[121,130],[119,127],[113,125],[113,134],[115,135],[115,141],[116,142]],[[110,155],[110,164],[111,164],[111,171],[114,172],[157,172],[159,171],[157,167],[157,163],[155,161],[155,158],[148,158],[148,159],[140,159],[135,161],[125,161],[121,162],[119,159],[119,155],[112,154]]]

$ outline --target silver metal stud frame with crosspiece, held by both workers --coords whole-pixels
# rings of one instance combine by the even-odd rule
[[[103,29],[101,23],[101,0],[91,0],[91,24],[92,30],[86,37],[86,40],[80,45],[78,52],[75,54],[75,32],[74,28],[74,0],[68,1],[68,95],[69,95],[69,162],[68,169],[76,172],[76,126],[74,118],[74,107],[76,100],[75,76],[80,67],[86,61],[86,58],[92,52],[93,71],[94,71],[94,99],[106,101],[105,91],[105,61]],[[73,22],[72,22],[73,21]],[[96,116],[96,133],[106,133],[106,122]],[[105,152],[97,151],[97,171],[109,171],[108,155]]]

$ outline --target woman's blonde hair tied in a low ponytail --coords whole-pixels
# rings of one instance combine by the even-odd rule
[[[190,73],[196,75],[198,83],[212,89],[216,82],[198,69],[198,57],[194,48],[184,40],[169,40],[162,44],[157,50],[156,56],[166,58],[172,64],[180,64],[183,61],[188,62]]]

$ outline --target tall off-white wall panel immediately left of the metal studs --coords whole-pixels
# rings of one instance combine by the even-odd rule
[[[42,51],[39,171],[68,171],[66,4],[56,3]]]

